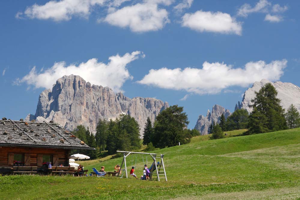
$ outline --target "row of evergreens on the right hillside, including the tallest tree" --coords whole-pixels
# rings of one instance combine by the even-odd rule
[[[266,83],[251,100],[253,111],[248,114],[245,109],[238,109],[227,120],[222,114],[220,123],[214,122],[208,129],[208,134],[214,134],[212,139],[223,138],[223,131],[248,129],[244,135],[273,132],[300,127],[300,115],[294,105],[287,111],[280,105],[278,92],[271,83]]]

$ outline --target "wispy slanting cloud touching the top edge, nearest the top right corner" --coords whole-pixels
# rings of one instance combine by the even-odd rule
[[[238,9],[238,16],[247,17],[250,13],[267,12],[267,7],[270,5],[267,0],[260,0],[253,8],[249,4],[244,4]]]

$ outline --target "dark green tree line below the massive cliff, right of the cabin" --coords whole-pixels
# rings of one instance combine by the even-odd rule
[[[100,119],[95,136],[82,125],[77,126],[72,133],[90,147],[97,149],[97,151],[89,152],[80,150],[76,153],[87,153],[91,159],[94,159],[104,151],[107,151],[109,155],[115,154],[117,150],[137,151],[142,143],[147,145],[146,150],[172,147],[179,143],[187,144],[192,136],[199,135],[197,130],[187,129],[188,124],[183,107],[174,105],[159,113],[154,124],[149,117],[147,118],[143,142],[140,138],[138,122],[128,114],[121,114],[116,120]]]

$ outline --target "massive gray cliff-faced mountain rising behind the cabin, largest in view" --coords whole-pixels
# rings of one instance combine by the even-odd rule
[[[147,117],[154,122],[160,111],[168,108],[167,102],[154,98],[128,98],[108,87],[91,85],[80,76],[63,76],[50,89],[41,92],[35,115],[26,119],[53,120],[73,130],[78,125],[89,127],[95,134],[99,119],[114,120],[120,114],[129,114],[140,125],[142,135]]]

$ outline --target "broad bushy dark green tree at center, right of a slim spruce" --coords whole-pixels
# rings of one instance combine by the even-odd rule
[[[186,138],[186,129],[189,121],[183,107],[170,106],[157,115],[154,123],[154,137],[151,141],[154,147],[164,148],[186,144],[190,138]],[[191,137],[191,136],[188,136]]]

